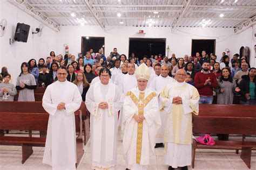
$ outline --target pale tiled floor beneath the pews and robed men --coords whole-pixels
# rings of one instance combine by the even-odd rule
[[[118,142],[118,158],[116,169],[125,169],[125,160],[122,154],[122,143]],[[23,170],[23,169],[51,169],[50,166],[42,164],[44,147],[33,147],[33,154],[24,164],[21,164],[21,146],[0,145],[0,169],[1,170]],[[84,157],[77,169],[91,169],[90,140],[84,146]],[[156,148],[156,155],[151,157],[149,169],[168,169],[163,164],[164,148]],[[189,169],[192,169],[190,166]],[[240,154],[233,150],[197,150],[196,169],[248,169],[240,159]],[[256,169],[256,152],[252,153],[251,169]]]

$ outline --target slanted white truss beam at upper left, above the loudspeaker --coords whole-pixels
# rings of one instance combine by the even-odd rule
[[[8,0],[8,2],[10,2],[11,4],[14,4],[19,9],[28,13],[33,18],[36,18],[37,20],[39,20],[39,22],[48,26],[50,29],[57,31],[57,32],[60,31],[59,24],[53,22],[49,17],[43,15],[41,12],[38,12],[37,9],[35,9],[31,4],[29,4],[25,0]]]

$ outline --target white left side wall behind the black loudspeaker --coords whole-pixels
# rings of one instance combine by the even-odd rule
[[[56,32],[44,25],[41,37],[32,35],[32,31],[35,32],[41,23],[6,0],[0,1],[0,13],[0,20],[5,18],[8,24],[4,36],[0,37],[0,67],[6,66],[12,82],[16,83],[22,62],[28,62],[32,58],[38,62],[39,58],[46,58],[50,51],[56,49]],[[17,23],[30,25],[28,42],[14,42],[10,45],[9,39],[14,38]]]

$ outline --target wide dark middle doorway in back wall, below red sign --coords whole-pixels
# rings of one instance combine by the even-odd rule
[[[165,38],[130,38],[129,56],[134,53],[136,57],[142,59],[144,55],[148,58],[151,55],[165,55],[165,44]]]

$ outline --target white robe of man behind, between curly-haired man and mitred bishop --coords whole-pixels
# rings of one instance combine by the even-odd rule
[[[127,91],[131,90],[132,88],[137,86],[137,79],[135,74],[126,74],[122,76],[122,79],[119,83],[119,89],[123,96],[127,93]],[[119,118],[118,118],[118,138],[123,140],[123,133],[122,133],[122,119],[123,119],[123,109],[120,110]]]

